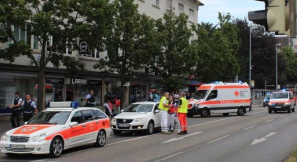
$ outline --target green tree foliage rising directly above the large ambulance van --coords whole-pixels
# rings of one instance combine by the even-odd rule
[[[214,80],[232,81],[239,73],[237,53],[239,40],[237,27],[231,22],[230,14],[219,13],[219,26],[211,23],[197,24],[194,28],[198,38],[195,41],[200,60],[196,74],[203,82]]]

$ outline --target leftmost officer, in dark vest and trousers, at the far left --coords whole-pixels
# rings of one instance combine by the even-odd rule
[[[15,99],[13,100],[12,105],[9,107],[12,111],[11,118],[10,118],[12,128],[16,128],[20,126],[22,101],[23,100],[19,97],[19,92],[15,92]],[[16,118],[16,124],[15,124],[15,118]]]

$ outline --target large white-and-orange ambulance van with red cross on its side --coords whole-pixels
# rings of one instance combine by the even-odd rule
[[[189,99],[187,116],[230,113],[244,115],[251,110],[251,91],[247,83],[211,83],[203,84]]]

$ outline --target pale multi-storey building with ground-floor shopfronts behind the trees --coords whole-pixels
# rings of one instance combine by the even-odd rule
[[[198,0],[135,0],[139,5],[139,12],[149,15],[154,19],[162,18],[165,13],[186,13],[189,15],[189,25],[196,24],[198,8],[203,5]],[[25,29],[30,29],[27,24]],[[13,26],[14,34],[18,40],[25,40],[33,49],[34,57],[40,57],[40,46],[37,38],[16,26]],[[48,42],[49,46],[51,42]],[[0,48],[6,48],[8,43],[0,44]],[[48,63],[46,68],[46,101],[79,101],[84,99],[88,90],[93,89],[96,94],[96,106],[100,107],[104,102],[104,96],[120,95],[120,78],[117,74],[100,75],[93,65],[99,59],[107,59],[106,52],[88,50],[85,54],[79,51],[71,51],[65,47],[64,55],[80,59],[86,65],[84,74],[71,76],[63,67],[55,68]],[[12,103],[14,93],[18,91],[21,97],[26,93],[32,94],[37,99],[38,78],[34,63],[27,56],[20,56],[13,63],[0,59],[0,115],[9,115],[5,108]],[[145,100],[149,89],[160,84],[161,78],[152,69],[143,68],[134,71],[131,82],[126,85],[126,95],[129,96],[124,103]]]

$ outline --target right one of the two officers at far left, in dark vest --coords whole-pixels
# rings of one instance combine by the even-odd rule
[[[37,114],[36,103],[32,101],[30,94],[26,94],[26,100],[22,103],[22,106],[24,122],[28,122],[33,117],[34,112]]]

